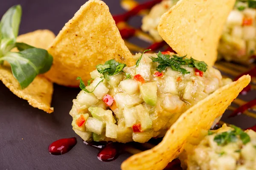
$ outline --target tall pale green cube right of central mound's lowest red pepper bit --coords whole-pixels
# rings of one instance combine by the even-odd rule
[[[141,130],[147,130],[152,127],[152,120],[149,116],[148,110],[143,105],[137,105],[136,107],[137,117],[141,125]]]

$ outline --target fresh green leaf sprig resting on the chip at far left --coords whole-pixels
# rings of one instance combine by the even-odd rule
[[[19,32],[22,9],[12,6],[0,21],[0,64],[9,62],[12,74],[26,88],[38,74],[43,74],[52,66],[52,56],[41,48],[16,42]],[[20,52],[11,52],[17,47]]]

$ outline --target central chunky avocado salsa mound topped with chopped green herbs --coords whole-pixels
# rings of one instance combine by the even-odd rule
[[[144,143],[164,136],[184,111],[231,82],[205,62],[144,52],[131,67],[113,59],[97,65],[87,86],[78,78],[82,91],[70,115],[85,141]]]

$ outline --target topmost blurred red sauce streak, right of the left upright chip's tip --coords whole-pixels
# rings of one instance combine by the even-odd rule
[[[122,21],[127,21],[130,17],[137,15],[141,10],[152,8],[154,5],[160,3],[161,1],[162,0],[152,0],[149,2],[142,3],[140,5],[135,6],[130,11],[125,12],[124,14],[113,16],[113,19],[115,20],[116,24]]]

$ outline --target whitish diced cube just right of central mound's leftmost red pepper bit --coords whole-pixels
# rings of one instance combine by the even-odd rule
[[[87,131],[100,135],[102,133],[104,124],[105,123],[96,118],[89,117],[85,123],[85,127]]]

